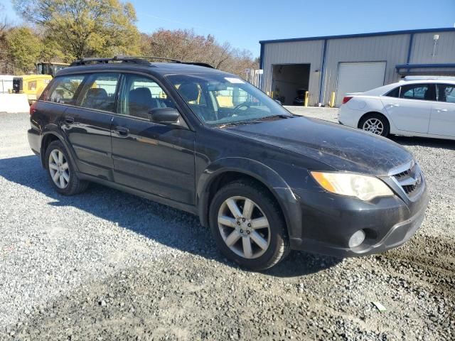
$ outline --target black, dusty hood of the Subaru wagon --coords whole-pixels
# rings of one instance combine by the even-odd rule
[[[299,153],[337,171],[382,176],[413,158],[405,148],[381,136],[320,119],[262,121],[225,131]]]

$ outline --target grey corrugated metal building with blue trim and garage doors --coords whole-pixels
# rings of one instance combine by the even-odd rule
[[[283,104],[309,91],[309,105],[405,75],[455,75],[455,28],[262,40],[261,88]],[[299,91],[300,90],[300,91]]]

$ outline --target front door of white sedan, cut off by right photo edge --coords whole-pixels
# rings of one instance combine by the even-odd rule
[[[455,85],[437,85],[428,134],[455,137]]]

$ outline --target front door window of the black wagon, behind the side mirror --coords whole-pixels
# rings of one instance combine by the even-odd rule
[[[149,119],[152,109],[176,107],[168,94],[149,77],[124,75],[122,87],[120,114]]]

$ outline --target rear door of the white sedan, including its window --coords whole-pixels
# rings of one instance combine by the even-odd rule
[[[426,134],[432,106],[436,101],[436,86],[434,84],[402,85],[399,92],[390,93],[393,96],[383,96],[381,100],[397,129]]]

